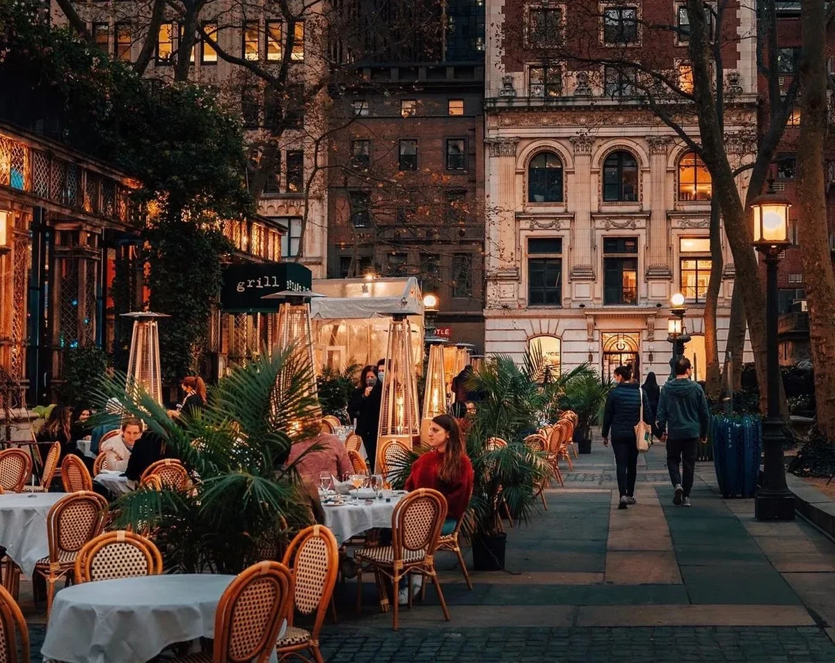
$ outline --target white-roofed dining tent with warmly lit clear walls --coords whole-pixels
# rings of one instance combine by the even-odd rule
[[[412,356],[418,373],[423,372],[423,294],[417,278],[319,279],[312,289],[326,295],[311,302],[313,352],[320,372],[385,358],[393,314],[407,316]]]

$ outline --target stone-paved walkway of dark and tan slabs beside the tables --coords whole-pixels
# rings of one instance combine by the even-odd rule
[[[508,571],[473,574],[472,591],[440,553],[449,623],[429,589],[393,632],[372,584],[354,614],[348,581],[325,659],[835,660],[835,544],[802,521],[757,523],[752,500],[721,499],[711,463],[693,507],[674,507],[664,454],[641,456],[638,504],[620,511],[612,453],[595,442],[547,492],[549,510],[508,529]]]

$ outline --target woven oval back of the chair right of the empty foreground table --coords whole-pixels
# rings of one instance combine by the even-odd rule
[[[284,555],[284,564],[293,575],[293,603],[301,615],[316,614],[311,632],[319,637],[327,606],[331,602],[339,569],[339,546],[324,525],[302,529]]]

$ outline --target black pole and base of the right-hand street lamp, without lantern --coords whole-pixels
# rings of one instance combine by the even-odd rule
[[[757,520],[794,520],[794,495],[786,485],[783,465],[783,422],[780,417],[780,364],[777,348],[777,265],[782,247],[757,247],[766,263],[766,347],[768,413],[762,424],[762,486],[754,500]]]

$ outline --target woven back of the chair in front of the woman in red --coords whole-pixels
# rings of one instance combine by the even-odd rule
[[[435,552],[443,521],[447,518],[447,499],[431,488],[418,488],[403,497],[392,513],[394,558],[407,552]]]

